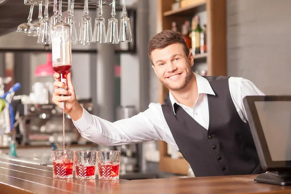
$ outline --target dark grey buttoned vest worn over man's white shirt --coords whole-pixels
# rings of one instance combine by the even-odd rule
[[[228,77],[205,78],[215,93],[208,95],[208,130],[176,103],[175,115],[169,95],[162,104],[179,151],[195,177],[263,173],[249,125],[242,121],[231,99]]]

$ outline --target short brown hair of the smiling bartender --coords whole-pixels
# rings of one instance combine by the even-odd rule
[[[173,30],[164,30],[156,34],[148,43],[148,56],[150,58],[151,52],[154,49],[163,49],[169,45],[180,43],[183,46],[186,56],[189,55],[187,44],[179,32]]]

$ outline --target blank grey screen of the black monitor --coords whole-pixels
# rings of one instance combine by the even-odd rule
[[[291,101],[255,101],[273,162],[291,161]]]

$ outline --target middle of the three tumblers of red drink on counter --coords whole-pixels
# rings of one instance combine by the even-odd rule
[[[96,178],[96,151],[74,151],[76,179]]]

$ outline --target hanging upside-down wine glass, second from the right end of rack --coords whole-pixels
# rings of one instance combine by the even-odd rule
[[[118,20],[115,18],[115,0],[112,2],[111,16],[108,19],[106,43],[118,44]]]

